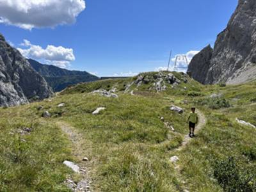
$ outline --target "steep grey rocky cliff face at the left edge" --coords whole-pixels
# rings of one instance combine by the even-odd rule
[[[51,95],[45,79],[0,34],[0,106],[26,104]]]

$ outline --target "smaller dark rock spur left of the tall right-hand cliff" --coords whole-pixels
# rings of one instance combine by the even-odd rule
[[[211,45],[208,45],[202,51],[198,52],[189,63],[189,75],[203,84],[205,83],[205,75],[211,65],[212,51]]]

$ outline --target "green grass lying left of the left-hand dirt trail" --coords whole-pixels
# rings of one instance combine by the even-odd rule
[[[62,164],[72,159],[68,140],[34,112],[33,105],[1,109],[0,191],[68,191],[63,180],[70,171]],[[30,134],[19,133],[24,127]]]

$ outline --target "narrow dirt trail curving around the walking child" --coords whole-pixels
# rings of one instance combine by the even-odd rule
[[[202,129],[205,124],[206,124],[206,118],[205,118],[205,115],[204,113],[202,113],[201,111],[197,110],[196,113],[198,114],[198,118],[199,118],[199,121],[198,121],[198,125],[196,125],[196,128],[195,128],[195,135],[198,133],[198,131],[200,131],[200,129]],[[186,136],[184,136],[184,139],[182,141],[182,144],[180,145],[179,148],[176,148],[175,150],[182,150],[182,148],[184,148],[190,140],[193,140],[193,138],[190,138],[188,136],[188,134],[186,134]]]

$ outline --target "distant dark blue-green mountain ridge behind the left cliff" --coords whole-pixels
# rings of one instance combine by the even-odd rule
[[[54,65],[44,65],[31,59],[28,61],[30,65],[45,78],[54,92],[60,92],[72,84],[99,80],[99,77],[93,76],[85,71],[67,70]]]

